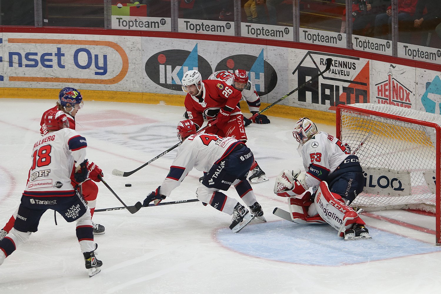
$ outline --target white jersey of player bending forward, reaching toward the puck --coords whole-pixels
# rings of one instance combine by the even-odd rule
[[[243,144],[235,138],[221,138],[213,134],[194,134],[179,147],[167,178],[161,184],[160,193],[169,196],[193,168],[209,171],[213,164],[231,153],[236,145]]]

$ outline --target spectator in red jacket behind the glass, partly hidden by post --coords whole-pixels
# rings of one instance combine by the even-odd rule
[[[413,22],[417,0],[398,0],[398,27],[407,29]],[[388,28],[387,33],[385,33]],[[401,30],[400,31],[403,31]],[[374,36],[376,38],[391,39],[392,32],[392,7],[389,6],[385,13],[377,15],[375,18]],[[407,36],[402,35],[400,42],[406,43]]]

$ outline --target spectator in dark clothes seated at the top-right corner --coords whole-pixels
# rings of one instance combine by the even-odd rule
[[[414,19],[415,28],[426,31],[434,30],[441,23],[440,1],[418,0]]]

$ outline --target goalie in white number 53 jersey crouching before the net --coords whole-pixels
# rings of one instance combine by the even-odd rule
[[[306,117],[297,121],[292,134],[306,173],[284,170],[274,186],[275,194],[289,197],[292,221],[329,223],[345,240],[370,239],[365,222],[349,206],[363,190],[359,158],[338,138],[318,132]]]

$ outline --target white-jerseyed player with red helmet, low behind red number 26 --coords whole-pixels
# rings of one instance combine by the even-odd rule
[[[254,84],[248,79],[246,71],[241,69],[235,70],[234,73],[230,73],[229,71],[216,71],[211,74],[208,79],[223,81],[225,84],[233,86],[242,93],[242,98],[247,101],[251,114],[254,115],[259,112],[260,97]],[[244,116],[243,123],[244,126],[247,127],[250,123],[266,124],[270,123],[270,121],[266,115],[259,114],[252,120]]]

